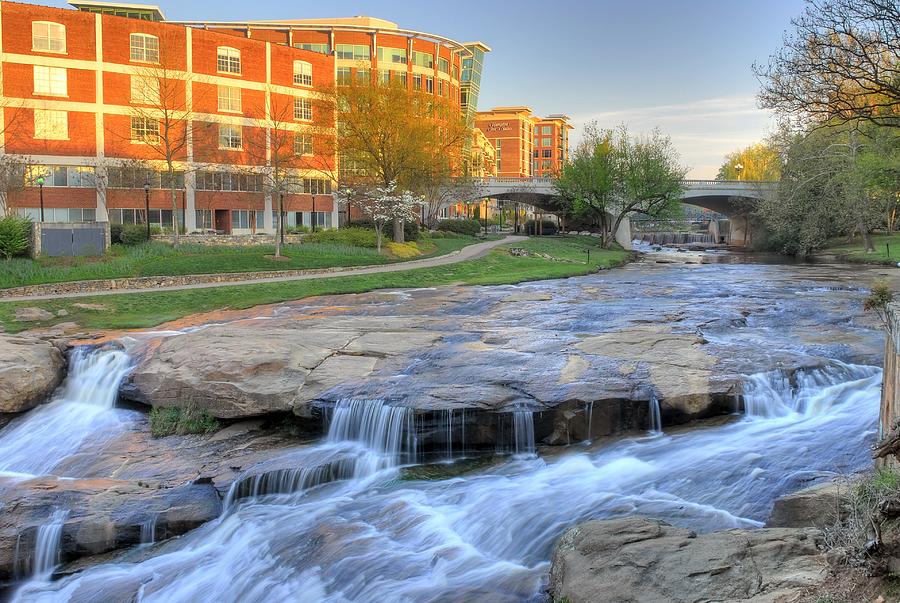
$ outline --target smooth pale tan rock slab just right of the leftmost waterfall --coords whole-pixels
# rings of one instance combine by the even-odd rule
[[[380,359],[439,335],[396,319],[226,324],[164,339],[138,360],[122,393],[152,406],[206,409],[221,419],[308,414],[327,389],[364,379]]]

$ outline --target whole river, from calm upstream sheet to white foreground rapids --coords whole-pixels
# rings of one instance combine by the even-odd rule
[[[651,406],[649,416],[657,418],[646,433],[544,447],[534,442],[531,413],[525,412],[510,436],[512,454],[456,475],[450,467],[442,478],[421,479],[408,470],[422,462],[411,410],[384,401],[384,384],[396,381],[382,379],[370,396],[337,403],[320,442],[287,453],[294,470],[236,486],[218,519],[128,561],[58,580],[43,567],[12,598],[544,601],[553,545],[579,521],[642,514],[701,531],[760,527],[778,496],[870,463],[881,336],[859,306],[875,273],[700,259],[651,259],[577,279],[466,288],[462,302],[435,306],[442,308],[435,319],[502,334],[508,346],[529,351],[528,366],[549,354],[544,346],[551,334],[565,339],[673,312],[679,321],[702,323],[703,336],[720,352],[755,349],[745,354],[744,366],[762,365],[770,356],[816,360],[790,379],[769,365],[747,370],[745,408],[731,420],[660,429],[658,409]],[[358,311],[387,315],[415,305],[417,296],[434,305],[442,291],[382,296]],[[526,294],[526,301],[498,303],[511,293]],[[313,312],[334,299],[286,305],[281,313]],[[748,306],[753,313],[741,314]],[[740,328],[736,317],[743,317]],[[463,333],[446,339],[427,362],[419,357],[405,367],[411,391],[465,371],[441,363],[470,338]],[[95,353],[104,354],[79,357],[56,402],[0,431],[0,470],[53,473],[61,457],[86,454],[86,447],[103,454],[104,434],[135,420],[132,411],[106,402],[110,382],[127,369],[126,356]],[[99,378],[85,379],[87,371],[103,366],[106,387],[85,393]],[[469,369],[470,375],[497,377],[510,366],[498,360]],[[73,403],[98,396],[103,410],[72,412]],[[75,416],[77,422],[66,419]],[[26,429],[29,423],[42,430]],[[43,450],[40,441],[46,442]],[[464,450],[451,447],[448,457],[464,456]],[[464,463],[447,463],[452,460]],[[53,517],[64,521],[62,513],[48,509],[48,526],[56,525]],[[53,530],[47,533],[52,540]]]

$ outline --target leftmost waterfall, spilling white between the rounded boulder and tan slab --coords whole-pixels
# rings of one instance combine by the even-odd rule
[[[45,475],[92,434],[114,435],[121,421],[111,411],[130,370],[122,350],[74,350],[68,377],[52,401],[0,430],[0,473]]]

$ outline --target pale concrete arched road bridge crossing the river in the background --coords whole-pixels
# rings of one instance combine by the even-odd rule
[[[746,215],[752,207],[767,195],[775,192],[776,182],[747,180],[685,180],[682,202],[703,207],[730,218],[729,242],[744,244],[747,239]],[[477,198],[489,197],[514,203],[533,205],[547,213],[557,209],[559,195],[553,178],[486,178],[477,188]],[[738,219],[740,218],[740,219]],[[623,221],[616,240],[623,246],[631,245],[631,225]],[[718,224],[711,234],[719,239]],[[627,245],[626,245],[627,244]]]

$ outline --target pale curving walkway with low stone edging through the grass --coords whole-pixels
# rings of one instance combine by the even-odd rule
[[[2,290],[0,290],[0,303],[4,302],[28,302],[28,301],[41,301],[41,300],[51,300],[51,299],[62,299],[62,298],[79,298],[79,297],[96,297],[103,295],[128,295],[132,293],[148,293],[148,292],[156,292],[156,291],[183,291],[187,289],[210,289],[213,287],[238,287],[241,285],[256,285],[261,283],[283,283],[288,281],[305,281],[310,279],[317,278],[334,278],[339,276],[358,276],[364,274],[379,274],[383,272],[400,272],[404,270],[414,270],[416,268],[432,268],[435,266],[445,266],[447,264],[455,264],[457,262],[465,262],[466,260],[474,260],[480,257],[484,257],[487,255],[492,249],[498,247],[500,245],[505,245],[507,243],[515,243],[518,241],[524,241],[527,237],[522,236],[507,236],[504,239],[499,241],[485,241],[483,243],[476,243],[474,245],[469,245],[467,247],[463,247],[459,251],[454,251],[452,253],[448,253],[446,255],[441,255],[433,258],[425,258],[421,260],[410,260],[408,262],[398,262],[396,264],[380,264],[378,266],[366,266],[361,268],[323,268],[320,270],[308,270],[304,271],[301,274],[291,275],[291,276],[274,276],[274,277],[266,277],[266,278],[255,278],[255,279],[239,279],[239,280],[223,280],[225,278],[234,276],[234,273],[229,275],[222,274],[197,274],[191,275],[186,278],[189,279],[208,279],[206,282],[195,282],[189,284],[181,284],[181,285],[170,285],[170,286],[147,286],[147,287],[139,287],[138,285],[142,280],[143,282],[147,282],[147,279],[153,279],[157,277],[140,277],[140,278],[132,278],[132,279],[111,279],[109,288],[101,289],[101,290],[90,290],[90,291],[78,291],[71,293],[63,293],[63,292],[55,292],[55,293],[47,293],[41,295],[20,295],[20,296],[11,296],[4,295]],[[158,277],[169,278],[169,277]],[[239,278],[239,277],[238,277]],[[218,280],[214,280],[218,279]],[[100,281],[99,283],[103,283],[104,281]],[[81,283],[87,284],[91,283],[93,286],[96,286],[98,281],[81,281]],[[132,287],[129,287],[129,283],[132,284]],[[72,283],[47,283],[46,285],[34,285],[34,287],[44,287],[52,288],[53,286],[71,286]]]

